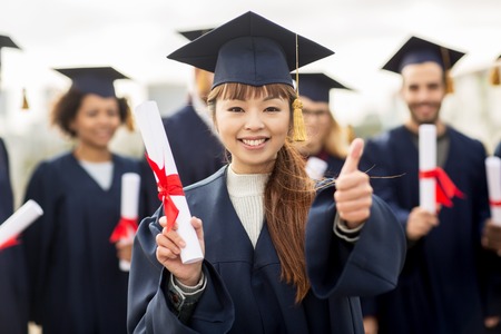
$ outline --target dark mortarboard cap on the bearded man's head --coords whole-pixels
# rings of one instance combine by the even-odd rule
[[[444,70],[450,70],[464,55],[464,52],[413,36],[383,66],[383,69],[401,73],[406,65],[433,61]]]

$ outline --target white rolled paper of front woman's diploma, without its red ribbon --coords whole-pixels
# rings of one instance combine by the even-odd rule
[[[178,174],[157,104],[155,101],[145,101],[140,104],[135,109],[135,116],[149,158],[154,160],[159,168],[164,167],[165,161],[167,175]],[[202,253],[195,228],[193,228],[190,223],[191,214],[186,197],[171,195],[170,198],[179,210],[177,217],[177,232],[186,243],[186,247],[181,248],[180,252],[181,262],[188,264],[202,261],[204,254]]]

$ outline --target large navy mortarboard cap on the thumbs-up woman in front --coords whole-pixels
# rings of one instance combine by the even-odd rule
[[[214,88],[225,82],[293,86],[292,70],[333,53],[249,11],[187,43],[167,58],[214,72]]]

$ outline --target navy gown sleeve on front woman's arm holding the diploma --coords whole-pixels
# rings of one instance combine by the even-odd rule
[[[233,302],[213,266],[204,261],[207,277],[204,294],[198,301],[197,313],[204,327],[196,322],[184,325],[173,312],[166,296],[169,273],[156,258],[155,237],[161,232],[157,218],[164,215],[161,207],[150,218],[145,218],[134,244],[132,267],[129,275],[127,328],[129,333],[227,333],[234,311]],[[207,310],[207,312],[204,312]],[[210,322],[208,320],[210,318]]]

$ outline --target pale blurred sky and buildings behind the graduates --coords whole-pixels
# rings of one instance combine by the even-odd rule
[[[71,145],[48,122],[52,104],[70,85],[53,68],[112,66],[131,78],[116,81],[118,96],[132,108],[156,100],[168,115],[185,102],[190,77],[188,66],[166,58],[187,42],[177,31],[213,28],[248,10],[335,51],[302,70],[324,71],[355,89],[332,91],[331,107],[356,136],[373,136],[407,116],[400,76],[381,67],[414,35],[468,53],[452,71],[455,92],[443,117],[489,153],[501,139],[501,86],[489,82],[501,55],[499,0],[0,1],[0,35],[19,47],[0,53],[0,136],[18,206],[35,166]],[[125,129],[112,147],[143,154],[139,134]]]

